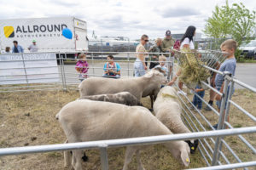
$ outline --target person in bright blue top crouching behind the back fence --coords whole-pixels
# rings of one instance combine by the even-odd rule
[[[108,62],[104,65],[103,77],[119,78],[121,74],[121,67],[118,63],[113,62],[113,55],[108,55]]]

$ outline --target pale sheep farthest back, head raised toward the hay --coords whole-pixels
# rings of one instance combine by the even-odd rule
[[[79,84],[80,97],[96,94],[116,94],[130,92],[140,101],[143,91],[154,84],[166,82],[160,71],[148,71],[143,77],[133,78],[104,78],[90,77]]]

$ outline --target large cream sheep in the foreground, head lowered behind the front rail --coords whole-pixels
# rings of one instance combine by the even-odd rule
[[[56,118],[61,122],[70,143],[172,134],[148,109],[141,106],[79,99],[65,105]],[[182,161],[184,166],[189,166],[188,144],[183,141],[171,141],[165,145],[172,156]],[[134,153],[137,154],[138,169],[144,169],[139,158],[141,147],[127,147],[123,170],[128,168]],[[64,156],[66,166],[70,167],[68,154],[70,152],[66,151]],[[82,169],[82,156],[82,150],[73,150],[72,166],[75,170]]]

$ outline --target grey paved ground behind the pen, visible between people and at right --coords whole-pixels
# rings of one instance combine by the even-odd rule
[[[93,65],[95,65],[95,68],[90,68],[88,74],[89,75],[96,75],[101,77],[103,74],[103,67],[104,62],[96,61]],[[121,77],[131,77],[133,72],[129,71],[128,74],[128,68],[133,68],[133,63],[130,63],[129,66],[125,62],[119,62],[121,68],[123,71],[121,71]],[[92,65],[92,64],[90,64]],[[78,73],[74,69],[74,65],[65,65],[65,73],[68,82],[79,82],[78,80]],[[248,85],[253,86],[253,88],[256,88],[256,64],[237,64],[236,67],[236,76],[238,80],[241,82],[245,82]],[[236,88],[241,88],[240,86],[236,85]]]

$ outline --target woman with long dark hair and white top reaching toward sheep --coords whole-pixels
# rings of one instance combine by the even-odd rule
[[[183,35],[183,38],[181,39],[180,49],[188,48],[188,49],[195,49],[193,37],[195,36],[195,26],[189,26],[187,28],[187,31]],[[174,82],[176,82],[177,77],[180,76],[181,69],[178,69],[175,77],[172,78],[171,82],[168,82],[169,86],[172,86]],[[178,88],[183,89],[183,82],[178,82]]]

